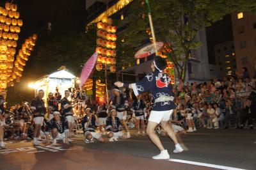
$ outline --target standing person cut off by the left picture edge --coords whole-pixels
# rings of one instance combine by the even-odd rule
[[[4,125],[5,125],[5,117],[4,117],[4,97],[0,95],[0,149],[5,149],[6,146],[4,144]]]

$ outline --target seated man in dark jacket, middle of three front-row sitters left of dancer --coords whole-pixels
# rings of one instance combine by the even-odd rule
[[[84,132],[84,143],[93,143],[93,138],[97,139],[97,141],[103,142],[104,139],[102,136],[95,132],[96,123],[99,123],[98,117],[92,112],[91,108],[86,108],[86,115],[82,121],[82,127]]]

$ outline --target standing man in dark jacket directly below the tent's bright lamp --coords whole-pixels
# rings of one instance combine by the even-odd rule
[[[38,137],[40,136],[40,130],[44,122],[44,115],[46,108],[42,98],[44,97],[44,90],[40,89],[38,95],[31,102],[30,109],[33,112],[33,121],[35,123],[34,129],[34,144],[39,144]]]

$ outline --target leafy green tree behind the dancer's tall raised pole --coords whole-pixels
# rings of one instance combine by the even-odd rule
[[[255,12],[256,1],[248,0],[150,0],[152,19],[157,42],[164,42],[172,52],[168,59],[173,61],[178,77],[185,79],[190,52],[202,45],[196,40],[198,31],[211,26],[213,22],[234,11]],[[121,60],[134,56],[136,48],[148,39],[148,8],[145,1],[134,1],[127,11],[127,17],[118,22],[127,27],[118,35],[125,42],[118,47],[124,51]]]

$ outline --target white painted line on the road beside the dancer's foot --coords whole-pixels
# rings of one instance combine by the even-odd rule
[[[183,164],[191,164],[191,165],[195,165],[195,166],[213,167],[213,168],[217,168],[217,169],[245,170],[245,169],[240,169],[237,167],[219,166],[219,165],[214,165],[214,164],[206,164],[206,163],[202,163],[202,162],[193,162],[193,161],[189,161],[189,160],[181,160],[181,159],[174,159],[174,158],[170,158],[169,161],[179,162],[179,163],[183,163]]]

